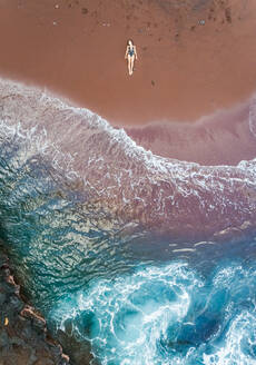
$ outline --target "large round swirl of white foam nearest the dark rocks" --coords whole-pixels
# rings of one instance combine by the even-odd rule
[[[193,273],[187,275],[186,267],[174,263],[115,280],[95,280],[86,293],[60,303],[50,317],[62,329],[67,319],[77,323],[73,333],[90,341],[101,364],[155,364],[159,342],[168,342],[168,327],[185,318],[189,292],[200,285]],[[81,314],[93,314],[90,336],[79,324]]]

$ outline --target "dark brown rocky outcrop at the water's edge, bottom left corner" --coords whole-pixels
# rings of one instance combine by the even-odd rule
[[[20,296],[8,257],[0,251],[0,365],[68,365],[46,320]]]

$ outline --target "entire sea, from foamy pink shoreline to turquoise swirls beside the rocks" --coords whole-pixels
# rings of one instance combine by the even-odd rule
[[[159,157],[10,80],[0,100],[0,237],[72,364],[256,364],[256,160]]]

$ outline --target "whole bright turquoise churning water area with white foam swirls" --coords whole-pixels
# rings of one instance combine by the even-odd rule
[[[255,364],[256,265],[186,263],[92,280],[50,318],[91,343],[101,364]]]

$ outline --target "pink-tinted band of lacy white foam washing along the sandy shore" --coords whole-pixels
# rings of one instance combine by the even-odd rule
[[[19,145],[16,164],[42,156],[67,178],[82,180],[88,197],[101,201],[100,209],[167,229],[170,223],[178,227],[179,218],[188,226],[215,220],[219,230],[255,221],[255,159],[199,166],[163,158],[90,110],[9,80],[0,80],[0,140]],[[253,99],[252,131],[255,105]]]

